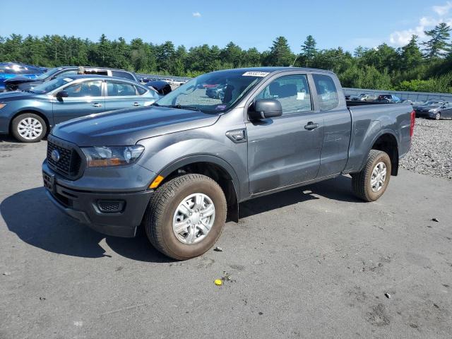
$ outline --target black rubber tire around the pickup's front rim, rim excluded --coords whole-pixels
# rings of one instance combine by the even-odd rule
[[[184,244],[173,232],[174,213],[184,198],[206,194],[215,206],[215,219],[210,232],[195,244]],[[206,253],[220,237],[226,221],[227,204],[221,187],[201,174],[186,174],[160,186],[150,198],[143,226],[151,244],[170,258],[186,260]]]

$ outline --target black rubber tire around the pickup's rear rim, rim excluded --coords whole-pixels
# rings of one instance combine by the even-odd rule
[[[386,165],[386,178],[379,191],[372,191],[371,177],[372,172],[379,162],[383,162]],[[352,190],[355,196],[364,201],[376,201],[383,193],[389,184],[391,178],[391,159],[389,155],[381,150],[371,150],[367,157],[367,162],[361,172],[352,174]]]

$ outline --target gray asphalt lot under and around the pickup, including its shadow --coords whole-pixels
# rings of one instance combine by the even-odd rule
[[[449,180],[401,170],[375,203],[347,177],[258,198],[222,252],[177,262],[59,213],[46,142],[1,140],[1,339],[452,336]]]

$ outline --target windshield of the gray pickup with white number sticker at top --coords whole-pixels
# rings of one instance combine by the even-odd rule
[[[266,75],[267,72],[243,69],[207,73],[168,93],[156,106],[225,112]]]

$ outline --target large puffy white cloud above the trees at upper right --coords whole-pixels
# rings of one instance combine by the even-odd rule
[[[420,40],[424,40],[426,35],[424,30],[430,30],[439,23],[452,24],[452,18],[444,18],[452,9],[452,1],[447,1],[444,6],[432,6],[432,11],[436,16],[424,16],[419,19],[419,23],[415,28],[408,30],[396,30],[389,36],[389,42],[396,46],[404,46],[410,42],[412,35],[418,35]]]

